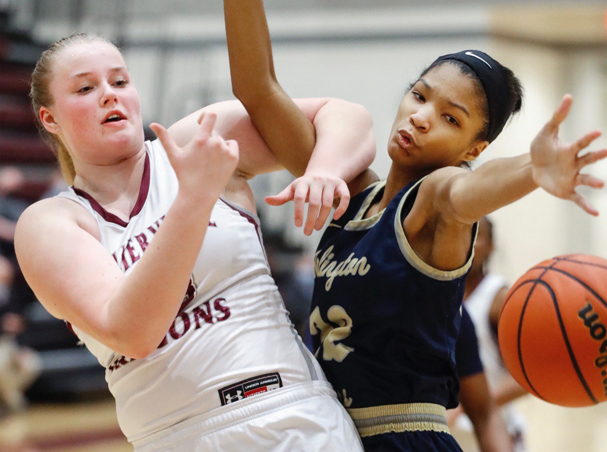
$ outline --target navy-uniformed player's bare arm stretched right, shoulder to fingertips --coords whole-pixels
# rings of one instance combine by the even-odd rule
[[[422,259],[438,269],[460,267],[467,259],[472,225],[537,187],[561,199],[572,200],[589,214],[599,214],[575,187],[603,187],[602,180],[580,171],[607,157],[607,149],[578,156],[600,136],[599,131],[590,132],[574,143],[560,142],[558,128],[567,117],[571,102],[571,96],[563,98],[551,120],[533,140],[531,152],[492,160],[474,171],[455,167],[438,169],[424,179],[404,222],[405,234],[412,238],[412,247]],[[425,247],[415,244],[419,237],[429,235],[432,238],[426,240]]]

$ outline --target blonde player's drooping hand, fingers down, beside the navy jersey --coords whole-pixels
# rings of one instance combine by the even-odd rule
[[[344,214],[350,202],[350,191],[344,180],[322,174],[304,174],[295,179],[285,190],[274,196],[267,196],[270,205],[294,203],[294,221],[299,228],[304,225],[304,234],[310,235],[314,229],[320,230],[327,221],[334,199],[339,198],[333,219]],[[304,224],[304,208],[308,202],[308,216]]]

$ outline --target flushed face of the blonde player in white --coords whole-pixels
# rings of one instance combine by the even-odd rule
[[[139,97],[116,47],[93,41],[62,49],[50,89],[51,126],[75,162],[106,165],[143,146]]]

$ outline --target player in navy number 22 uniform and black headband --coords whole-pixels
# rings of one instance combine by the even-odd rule
[[[263,92],[273,71],[265,64],[270,41],[262,1],[224,5],[226,19],[231,10],[240,17],[232,27],[228,22],[228,39],[240,41],[231,46],[231,62],[249,64],[237,70],[248,78],[242,83]],[[255,58],[247,60],[247,52]],[[236,77],[232,70],[232,83]],[[240,97],[257,124],[256,102],[248,96]],[[571,145],[558,141],[569,96],[530,153],[463,168],[521,102],[517,78],[486,53],[438,58],[401,101],[388,140],[387,180],[375,182],[369,172],[358,181],[368,186],[361,193],[351,185],[358,196],[320,239],[311,334],[367,451],[459,450],[444,415],[457,405],[455,341],[478,219],[538,186],[597,214],[575,187],[602,187],[580,169],[606,157],[607,149],[578,157],[599,132]],[[259,130],[265,135],[269,128]]]

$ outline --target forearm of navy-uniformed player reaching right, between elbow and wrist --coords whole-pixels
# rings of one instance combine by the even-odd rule
[[[448,193],[450,211],[458,221],[472,224],[537,187],[529,154],[492,160],[453,177]]]

